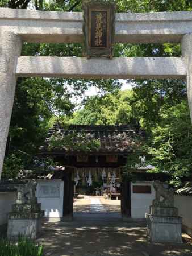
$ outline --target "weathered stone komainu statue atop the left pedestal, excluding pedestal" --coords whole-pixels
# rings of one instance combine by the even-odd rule
[[[37,203],[37,199],[35,196],[36,185],[37,183],[35,180],[30,180],[27,184],[19,185],[18,187],[16,187],[18,191],[16,204]]]

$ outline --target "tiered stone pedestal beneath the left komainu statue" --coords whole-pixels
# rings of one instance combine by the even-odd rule
[[[41,204],[14,204],[9,214],[7,237],[36,238],[41,233]]]

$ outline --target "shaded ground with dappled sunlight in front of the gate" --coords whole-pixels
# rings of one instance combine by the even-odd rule
[[[191,256],[192,243],[151,244],[146,228],[123,222],[74,221],[45,224],[38,241],[45,243],[45,255],[52,256]],[[118,225],[119,224],[119,225]]]

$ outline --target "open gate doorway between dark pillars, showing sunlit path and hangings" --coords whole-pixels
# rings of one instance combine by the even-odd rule
[[[74,174],[73,217],[120,218],[120,168],[77,168]]]

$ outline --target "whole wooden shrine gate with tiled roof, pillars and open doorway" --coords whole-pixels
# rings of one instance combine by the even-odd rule
[[[55,134],[60,134],[62,140],[70,136],[74,143],[76,137],[83,134],[87,140],[97,141],[99,146],[91,147],[86,152],[72,150],[72,147],[65,150],[53,148],[50,151],[49,141]],[[41,147],[41,154],[53,156],[55,162],[65,169],[63,177],[64,218],[72,218],[73,213],[77,212],[84,213],[84,210],[79,209],[77,201],[83,205],[86,203],[84,200],[78,200],[78,195],[84,196],[89,201],[90,207],[87,207],[87,211],[90,213],[95,213],[95,204],[97,204],[95,202],[98,201],[98,205],[102,205],[104,212],[111,213],[113,208],[114,212],[127,218],[131,217],[130,183],[124,180],[122,172],[127,163],[127,156],[132,150],[132,144],[135,145],[144,136],[143,131],[136,125],[70,125],[64,127],[56,123],[49,130],[48,138],[45,139],[47,146]],[[98,197],[96,201],[95,196]]]

